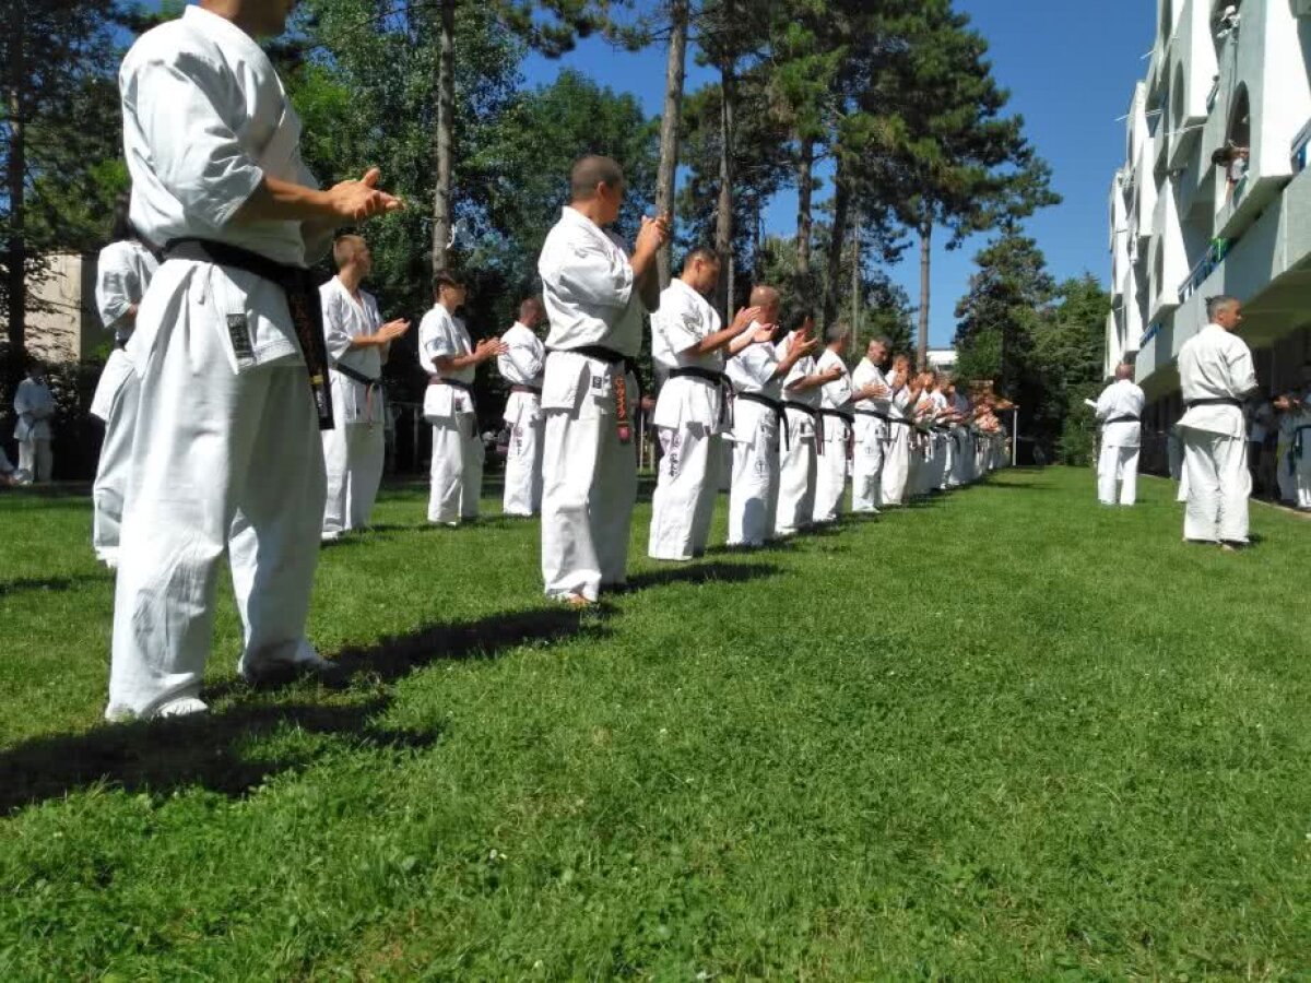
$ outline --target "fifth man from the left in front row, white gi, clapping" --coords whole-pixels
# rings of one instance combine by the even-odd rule
[[[779,342],[779,359],[783,359],[794,338],[809,341],[813,334],[814,317],[802,313],[801,326]],[[779,512],[773,522],[776,536],[794,536],[814,524],[818,457],[823,450],[819,391],[839,375],[840,370],[834,368],[821,372],[815,357],[804,355],[783,379],[788,433],[779,451]]]

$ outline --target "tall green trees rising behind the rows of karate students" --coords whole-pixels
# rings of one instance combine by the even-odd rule
[[[28,284],[50,253],[104,245],[113,198],[126,186],[118,60],[136,33],[182,4],[3,3],[10,28],[0,37],[0,307],[12,385]],[[665,48],[661,117],[576,71],[524,87],[530,52],[561,55],[593,35],[616,58]],[[270,52],[304,119],[315,173],[340,180],[379,164],[410,206],[370,227],[384,311],[417,317],[431,303],[430,278],[459,269],[472,287],[475,333],[501,330],[535,290],[569,164],[585,152],[623,163],[629,233],[641,212],[667,208],[678,220],[674,261],[696,242],[730,257],[717,298],[725,311],[768,279],[791,316],[813,308],[821,324],[842,318],[861,338],[890,336],[920,360],[935,237],[954,248],[999,229],[1007,244],[1024,218],[1058,201],[1023,119],[1007,111],[986,41],[950,0],[302,0]],[[688,59],[711,71],[712,84],[684,92]],[[789,187],[796,229],[766,236],[764,210]],[[915,305],[885,273],[912,246],[922,265]],[[999,258],[981,253],[977,279],[991,283]],[[662,262],[669,275],[670,256]],[[1066,324],[1051,312],[1068,300],[1058,303],[1063,287],[1024,286],[1015,303],[1032,307],[1012,320],[998,318],[1013,305],[975,303],[981,286],[971,288],[958,339],[970,353],[992,338],[1011,343],[995,346],[991,362],[969,355],[962,370],[988,372],[982,377],[1025,406],[1025,426],[1054,446],[1072,397],[1065,381],[1049,380],[1074,349],[1040,338]],[[1093,318],[1097,304],[1084,300],[1066,316],[1086,316],[1086,341],[1100,345],[1104,311]],[[1025,317],[1032,324],[1020,330]],[[388,374],[401,395],[422,384],[412,358],[393,359]],[[480,384],[494,389],[493,376]]]

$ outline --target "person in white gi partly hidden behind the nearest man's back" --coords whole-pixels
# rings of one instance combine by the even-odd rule
[[[123,502],[132,463],[132,431],[136,429],[139,385],[125,347],[136,326],[142,298],[159,269],[159,261],[132,225],[131,195],[121,195],[114,208],[110,244],[96,262],[96,307],[100,320],[114,333],[114,350],[96,384],[90,414],[104,421],[96,481],[92,485],[92,547],[96,558],[110,569],[118,566],[118,537]]]

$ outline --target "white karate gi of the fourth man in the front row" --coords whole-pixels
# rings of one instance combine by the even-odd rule
[[[751,322],[750,332],[760,325]],[[725,371],[741,397],[754,393],[775,404],[783,398],[776,379],[779,353],[768,342],[751,343],[733,355]],[[733,401],[733,484],[729,486],[730,547],[763,547],[773,539],[779,511],[779,414],[754,400]]]

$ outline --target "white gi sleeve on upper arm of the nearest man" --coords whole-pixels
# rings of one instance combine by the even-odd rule
[[[227,225],[264,181],[241,149],[231,115],[233,93],[215,66],[189,52],[155,58],[123,80],[123,105],[134,114],[160,182],[184,210]],[[233,107],[235,109],[235,107]]]

